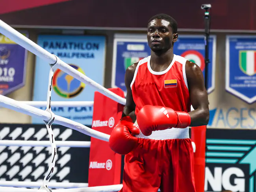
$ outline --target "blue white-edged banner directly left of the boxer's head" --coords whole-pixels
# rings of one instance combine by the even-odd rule
[[[128,66],[150,55],[147,35],[115,34],[112,64],[112,87],[126,92],[124,75]]]

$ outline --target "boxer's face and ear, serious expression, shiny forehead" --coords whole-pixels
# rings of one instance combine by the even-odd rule
[[[153,19],[148,24],[148,46],[152,51],[169,50],[177,40],[178,34],[173,34],[170,22],[165,19]]]

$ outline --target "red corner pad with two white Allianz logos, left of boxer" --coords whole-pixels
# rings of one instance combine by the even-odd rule
[[[121,89],[109,90],[124,98]],[[123,107],[101,93],[95,92],[92,129],[110,135],[115,124],[121,119]],[[120,179],[121,155],[112,151],[108,142],[91,137],[89,186],[120,184]]]

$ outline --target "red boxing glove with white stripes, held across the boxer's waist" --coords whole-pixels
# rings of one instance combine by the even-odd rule
[[[174,111],[169,107],[145,105],[137,114],[139,129],[145,136],[152,131],[173,127],[186,128],[191,123],[187,112]]]

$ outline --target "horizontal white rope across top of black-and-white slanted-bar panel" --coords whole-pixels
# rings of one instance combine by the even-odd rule
[[[33,141],[33,140],[0,140],[0,146],[30,146],[30,147],[50,147],[49,141]],[[90,141],[56,141],[57,147],[76,147],[90,148]]]

